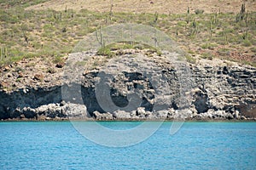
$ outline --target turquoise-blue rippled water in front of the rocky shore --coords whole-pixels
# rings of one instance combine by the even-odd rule
[[[171,124],[140,144],[109,148],[70,122],[0,122],[0,169],[256,169],[256,122],[186,122],[174,135]]]

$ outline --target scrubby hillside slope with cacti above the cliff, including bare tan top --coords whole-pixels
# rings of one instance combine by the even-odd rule
[[[255,65],[254,0],[245,8],[240,0],[82,2],[0,0],[0,64],[30,57],[54,61],[100,26],[132,22],[165,31],[190,60],[199,54]]]

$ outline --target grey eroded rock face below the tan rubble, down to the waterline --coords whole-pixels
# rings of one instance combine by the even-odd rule
[[[253,67],[214,63],[183,63],[177,67],[166,61],[164,56],[157,55],[143,58],[143,67],[134,62],[137,58],[123,55],[118,64],[124,69],[118,70],[114,62],[108,64],[110,71],[111,68],[117,70],[112,77],[108,77],[111,75],[109,69],[99,67],[84,72],[82,86],[68,85],[78,86],[76,89],[81,90],[84,104],[77,102],[79,96],[75,93],[70,93],[71,96],[66,96],[70,100],[63,102],[61,90],[68,86],[63,88],[59,82],[56,86],[51,83],[49,86],[10,92],[2,89],[0,119],[44,120],[85,116],[96,120],[223,120],[256,117],[256,69]],[[189,74],[186,69],[189,69]],[[97,82],[104,77],[109,79],[106,92],[113,105],[117,106],[113,111],[102,108],[96,98]],[[2,84],[2,87],[7,86]],[[125,109],[135,94],[139,102],[132,110]],[[87,110],[82,108],[84,105]]]

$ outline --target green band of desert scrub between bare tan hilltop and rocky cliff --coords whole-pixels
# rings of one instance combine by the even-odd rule
[[[11,5],[10,8],[0,9],[0,21],[3,23],[0,31],[0,46],[8,48],[9,55],[9,59],[2,59],[2,63],[5,60],[13,61],[26,56],[44,56],[53,61],[56,54],[70,53],[77,42],[94,31],[97,34],[97,41],[101,47],[104,47],[101,26],[124,22],[155,26],[174,39],[176,37],[185,50],[192,50],[195,54],[199,53],[195,47],[212,49],[214,48],[212,44],[228,45],[241,53],[247,50],[247,47],[252,48],[256,45],[256,13],[247,12],[244,4],[239,7],[237,22],[236,14],[205,14],[200,10],[201,8],[196,11],[197,14],[192,14],[192,8],[189,7],[184,11],[186,14],[115,12],[114,17],[112,17],[113,9],[111,8],[110,11],[102,13],[87,9],[73,10],[68,6],[64,6],[62,11],[53,9],[30,11],[23,8],[43,1],[47,0],[25,1],[21,8],[18,5]],[[15,3],[15,1],[12,2]],[[3,3],[9,4],[9,1]],[[111,17],[112,20],[109,21]],[[105,22],[106,18],[108,22]],[[131,35],[131,44],[125,43],[126,48],[143,48],[141,44],[134,42],[134,35]],[[157,35],[152,37],[154,48],[159,47],[160,41],[157,37]],[[44,44],[44,47],[41,44]],[[2,48],[2,57],[3,55]]]

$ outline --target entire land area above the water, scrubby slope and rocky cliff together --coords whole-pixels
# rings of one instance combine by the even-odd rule
[[[103,70],[106,69],[104,66],[112,59],[122,58],[125,60],[110,65],[113,70],[121,71],[116,84],[111,84],[111,95],[116,104],[124,106],[128,94],[136,88],[135,91],[143,95],[142,105],[137,111],[143,115],[142,119],[148,116],[152,119],[162,116],[172,119],[182,114],[188,120],[244,120],[255,117],[254,1],[156,3],[142,0],[137,3],[130,0],[114,1],[113,6],[112,1],[107,0],[83,2],[0,1],[1,119],[66,119],[70,105],[74,105],[79,116],[84,116],[81,113],[83,110],[79,111],[81,101],[76,96],[71,94],[71,104],[67,104],[61,95],[61,88],[66,85],[72,87],[73,80],[80,76],[79,69],[84,77],[81,93],[89,96],[83,100],[90,113],[87,118],[125,119],[128,114],[130,118],[137,119],[135,110],[111,116],[106,113],[106,118],[101,115],[104,113],[96,103],[96,75],[101,72],[108,75]],[[122,31],[110,32],[112,36],[122,38],[125,32],[130,32],[125,34],[129,41],[121,39],[110,43],[106,30],[126,23],[130,24],[122,27]],[[135,28],[147,28],[151,35]],[[135,35],[143,42],[136,41]],[[171,54],[161,51],[160,44],[165,41],[164,45],[171,49]],[[90,48],[90,45],[97,48]],[[90,50],[84,52],[84,49]],[[77,60],[83,58],[84,53],[90,55],[90,59]],[[71,71],[75,74],[71,81],[63,82],[68,59],[73,55],[77,62]],[[182,65],[173,65],[172,58],[175,56]],[[121,64],[126,64],[137,69],[139,59],[155,71],[154,75],[165,77],[166,84],[172,88],[160,96],[160,105],[171,109],[168,113],[156,113],[152,108],[157,92],[152,87],[152,81],[143,75],[148,70],[121,68]],[[183,75],[182,71],[191,71],[190,77]],[[186,87],[186,93],[180,94],[178,89],[190,82],[191,88]],[[158,87],[165,87],[162,85]],[[186,100],[179,99],[179,96],[187,94],[192,103],[185,110],[181,103]],[[166,103],[165,99],[171,103]]]

